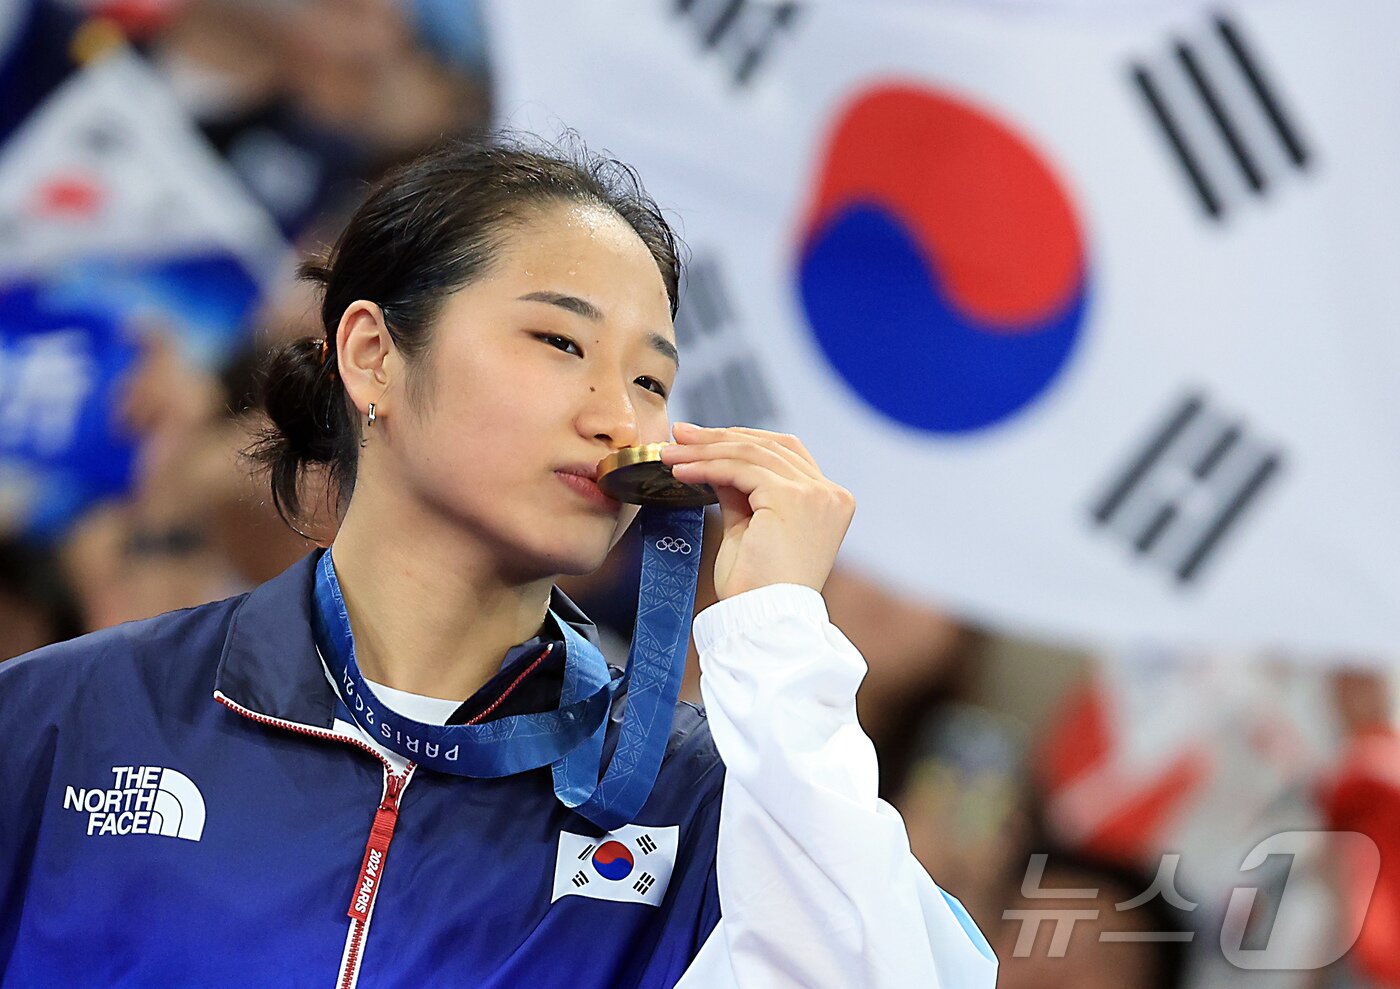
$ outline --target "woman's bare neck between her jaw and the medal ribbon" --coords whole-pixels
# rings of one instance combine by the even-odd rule
[[[332,560],[356,658],[372,681],[465,700],[539,633],[553,580],[504,579],[479,539],[357,490]]]

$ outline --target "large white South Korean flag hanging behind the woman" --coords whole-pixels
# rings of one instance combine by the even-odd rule
[[[673,415],[802,437],[846,565],[1070,642],[1394,650],[1400,6],[489,13],[501,123],[679,220]]]

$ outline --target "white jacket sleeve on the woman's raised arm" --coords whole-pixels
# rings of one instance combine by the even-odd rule
[[[811,587],[770,584],[694,621],[725,765],[721,920],[679,989],[991,989],[997,960],[909,850],[855,720],[865,660]]]

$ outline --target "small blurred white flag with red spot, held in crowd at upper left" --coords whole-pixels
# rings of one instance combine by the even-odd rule
[[[141,59],[76,71],[0,153],[0,280],[92,258],[223,252],[266,276],[276,226]]]

